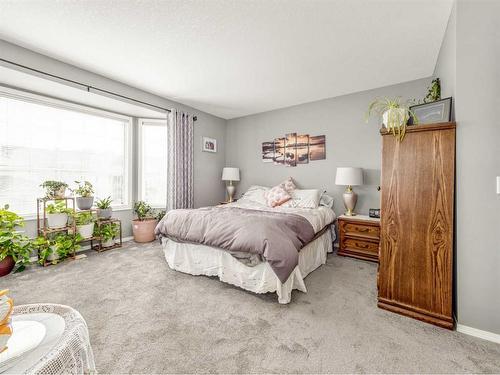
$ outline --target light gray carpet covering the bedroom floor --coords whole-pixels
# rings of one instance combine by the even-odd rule
[[[375,279],[375,264],[330,255],[282,306],[128,243],[0,286],[79,310],[100,373],[500,372],[500,345],[378,309]]]

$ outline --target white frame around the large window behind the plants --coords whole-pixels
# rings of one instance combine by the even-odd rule
[[[56,99],[50,96],[40,95],[28,91],[13,89],[0,85],[0,97],[5,97],[9,99],[19,100],[27,103],[44,105],[47,107],[69,110],[73,112],[80,112],[88,115],[109,118],[113,120],[119,120],[125,122],[125,134],[124,134],[124,155],[125,155],[125,169],[124,169],[124,180],[125,180],[125,204],[112,205],[114,211],[126,211],[132,209],[133,202],[133,143],[132,143],[132,129],[133,129],[133,117],[126,116],[119,113],[114,113],[110,111],[105,111],[102,109],[90,107],[83,104],[78,104],[70,101],[65,101],[62,99]],[[33,197],[36,200],[37,197]],[[28,213],[20,215],[25,220],[35,220],[37,218],[37,213]]]

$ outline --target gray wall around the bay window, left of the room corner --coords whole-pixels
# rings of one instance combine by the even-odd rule
[[[221,182],[221,171],[225,161],[225,132],[226,120],[212,116],[191,107],[170,101],[168,99],[147,93],[134,87],[124,85],[103,76],[91,73],[78,67],[63,63],[50,57],[35,53],[28,49],[8,43],[0,39],[0,58],[16,62],[30,68],[62,76],[74,81],[83,82],[94,87],[116,92],[137,100],[148,102],[164,108],[177,108],[187,111],[198,117],[194,131],[194,202],[196,207],[212,205],[224,198],[224,185]],[[6,65],[9,66],[9,65]],[[201,137],[216,138],[218,143],[217,153],[201,151]],[[134,159],[136,160],[136,159]],[[137,164],[135,164],[137,165]],[[137,168],[134,168],[134,198],[137,197]],[[130,210],[119,211],[115,216],[123,221],[124,236],[132,234]],[[35,223],[28,222],[27,234],[35,235]]]

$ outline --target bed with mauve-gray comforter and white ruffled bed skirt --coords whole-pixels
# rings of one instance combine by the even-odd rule
[[[281,304],[294,289],[306,293],[304,278],[333,251],[333,200],[317,193],[317,203],[304,207],[297,189],[295,203],[269,207],[269,189],[251,187],[234,203],[167,213],[155,233],[169,267],[254,293],[275,292]]]

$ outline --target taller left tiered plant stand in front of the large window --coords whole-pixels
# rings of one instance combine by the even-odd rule
[[[37,226],[37,233],[39,236],[42,236],[43,238],[47,238],[50,235],[53,235],[55,233],[59,232],[66,232],[66,234],[74,234],[76,233],[76,225],[75,221],[73,220],[71,225],[66,224],[66,226],[62,228],[49,228],[47,226],[47,202],[56,202],[56,201],[65,201],[66,208],[68,208],[68,203],[71,203],[71,208],[73,210],[73,213],[76,211],[76,204],[75,204],[75,198],[74,197],[64,197],[64,198],[37,198],[36,200],[36,226]],[[40,252],[37,252],[38,260],[40,260]],[[73,252],[71,253],[70,257],[72,259],[76,258],[75,254],[75,249],[73,249]],[[51,264],[57,264],[61,262],[63,259],[57,259],[54,261],[45,261],[43,266],[49,266]]]

